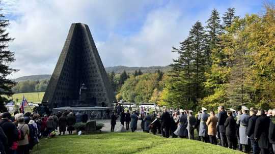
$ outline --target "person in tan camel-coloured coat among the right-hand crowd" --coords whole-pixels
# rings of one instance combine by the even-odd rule
[[[217,134],[217,117],[215,116],[215,112],[211,111],[210,116],[208,117],[206,121],[207,125],[207,134],[209,135],[209,140],[211,144],[217,145],[217,139],[216,139],[216,134]]]

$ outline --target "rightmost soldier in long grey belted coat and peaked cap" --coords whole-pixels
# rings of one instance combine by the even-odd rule
[[[250,149],[250,143],[248,136],[246,135],[246,130],[248,129],[249,118],[250,115],[248,114],[249,108],[245,106],[241,106],[242,115],[238,119],[238,123],[240,124],[239,133],[240,133],[240,146],[244,146],[244,152],[248,153]]]

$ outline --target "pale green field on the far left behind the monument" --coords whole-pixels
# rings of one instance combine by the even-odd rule
[[[23,96],[25,96],[26,100],[28,102],[41,102],[43,99],[45,92],[36,92],[36,93],[18,93],[14,94],[8,99],[12,99],[13,101],[16,102],[16,99],[18,99],[18,102],[21,102],[23,99]],[[7,98],[7,97],[6,97]]]

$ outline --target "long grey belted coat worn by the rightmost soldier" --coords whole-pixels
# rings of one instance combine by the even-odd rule
[[[240,115],[239,118],[239,133],[240,133],[240,144],[249,145],[248,137],[246,136],[246,130],[248,129],[249,124],[249,117],[250,115],[248,113],[243,113]]]

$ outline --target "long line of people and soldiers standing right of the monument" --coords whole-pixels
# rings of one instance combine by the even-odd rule
[[[257,110],[241,107],[241,110],[225,110],[219,106],[217,113],[202,108],[196,115],[191,110],[152,111],[138,110],[114,111],[111,115],[111,131],[120,117],[121,125],[134,132],[137,121],[141,120],[143,132],[161,134],[169,138],[195,139],[249,153],[275,153],[275,109]]]

